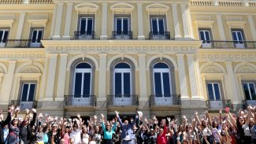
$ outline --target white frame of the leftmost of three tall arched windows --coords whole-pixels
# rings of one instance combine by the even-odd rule
[[[80,63],[80,64],[81,64],[81,63]],[[79,65],[79,64],[77,64],[77,65]],[[76,65],[76,66],[77,66],[77,65]],[[90,64],[87,63],[87,65],[90,65]],[[90,75],[90,94],[89,94],[89,95],[91,95],[91,90],[92,90],[92,87],[91,87],[91,83],[92,83],[92,79],[91,79],[91,78],[92,78],[92,68],[76,68],[76,67],[75,67],[72,95],[75,95],[76,73],[82,73],[82,83],[81,83],[81,91],[80,91],[80,96],[81,96],[81,98],[82,98],[82,96],[83,96],[83,83],[84,83],[83,77],[84,77],[84,73],[90,73],[90,74],[91,74],[91,75]]]

